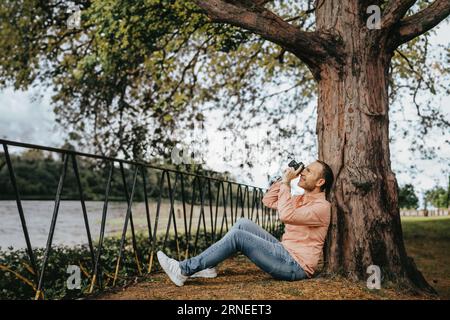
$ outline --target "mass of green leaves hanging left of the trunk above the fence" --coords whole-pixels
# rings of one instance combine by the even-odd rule
[[[209,23],[192,1],[76,3],[82,9],[79,29],[67,28],[67,3],[1,3],[0,86],[53,86],[57,121],[70,138],[103,154],[167,158],[182,141],[177,130],[203,122],[197,115],[205,102],[220,101],[216,106],[227,109],[237,98],[247,106],[246,91],[252,91],[251,100],[267,95],[254,86],[272,85],[271,79],[284,73],[276,45]],[[312,80],[293,55],[285,54],[284,63],[291,75],[301,77],[295,80],[297,89]],[[298,90],[291,101],[297,110],[299,98],[311,96],[313,89]],[[264,111],[252,107],[252,113]]]

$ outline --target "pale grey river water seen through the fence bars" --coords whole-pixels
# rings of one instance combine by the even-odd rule
[[[22,201],[25,220],[28,228],[28,234],[32,247],[45,247],[50,229],[54,201]],[[156,203],[149,204],[150,221],[152,231],[156,216]],[[89,226],[93,241],[97,241],[100,233],[103,202],[87,201],[86,209],[88,213]],[[191,207],[186,204],[186,214],[190,215]],[[121,235],[127,204],[125,202],[110,202],[108,204],[107,219],[105,224],[105,236]],[[170,212],[170,203],[162,202],[160,209],[160,217],[158,220],[158,234],[164,235],[166,232],[168,218]],[[194,206],[192,230],[196,230],[199,220],[200,207]],[[133,222],[135,230],[144,232],[148,235],[147,218],[144,203],[135,203],[132,207]],[[213,209],[215,215],[215,208]],[[222,221],[223,208],[219,208],[217,225],[220,229]],[[207,226],[210,225],[209,207],[205,207],[205,217]],[[178,232],[184,231],[183,207],[179,202],[175,203],[175,216]],[[230,219],[228,218],[228,221]],[[230,223],[230,222],[229,222]],[[173,223],[171,229],[173,232]],[[202,229],[203,230],[203,229]],[[130,224],[128,224],[128,234],[131,234]],[[53,245],[80,245],[88,243],[86,228],[84,225],[83,213],[79,201],[61,201],[55,234],[53,237]],[[14,249],[25,248],[25,238],[22,231],[17,204],[15,201],[0,201],[0,247],[6,250],[12,246]]]

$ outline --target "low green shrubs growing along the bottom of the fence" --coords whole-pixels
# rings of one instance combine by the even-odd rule
[[[195,234],[190,238],[190,250],[192,254]],[[149,252],[151,249],[151,242],[143,235],[136,235],[136,243],[138,248],[138,260],[143,273],[146,273],[149,262]],[[184,257],[184,250],[186,248],[186,238],[181,235],[179,237],[179,247],[181,249],[182,257]],[[155,252],[163,248],[164,239],[162,237],[157,239]],[[211,234],[200,232],[197,241],[197,252],[206,249],[211,244]],[[98,245],[94,244],[97,249]],[[131,245],[131,239],[125,243],[125,250],[122,254],[120,263],[117,286],[122,286],[130,283],[139,276],[137,271],[137,264],[134,258],[134,251]],[[171,237],[166,242],[164,252],[169,256],[177,257],[177,246],[174,237]],[[1,248],[0,248],[1,249]],[[7,266],[10,270],[29,280],[34,281],[34,274],[30,267],[28,255],[25,249],[21,250],[1,251],[0,250],[0,266]],[[95,249],[95,250],[96,250]],[[112,279],[115,273],[117,258],[120,249],[119,238],[104,239],[102,254],[100,257],[100,265],[102,270],[102,284],[104,288],[112,287]],[[35,257],[37,258],[39,266],[42,263],[44,256],[44,249],[34,249]],[[69,265],[77,265],[81,269],[81,288],[69,290],[66,281],[70,276],[67,273]],[[40,267],[38,267],[40,270]],[[86,296],[92,279],[92,262],[89,253],[89,248],[86,245],[67,247],[56,246],[53,247],[44,274],[44,298],[45,299],[74,299]],[[156,254],[153,257],[152,272],[160,270]],[[11,271],[0,269],[0,299],[32,299],[35,296],[33,287],[18,277]],[[98,285],[95,286],[94,293],[98,292]]]

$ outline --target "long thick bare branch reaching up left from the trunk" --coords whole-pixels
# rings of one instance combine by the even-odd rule
[[[305,32],[270,10],[257,5],[263,0],[194,0],[212,22],[234,25],[280,45],[305,62],[311,69],[324,58],[340,57],[339,46],[319,32]],[[312,70],[314,72],[314,70]]]

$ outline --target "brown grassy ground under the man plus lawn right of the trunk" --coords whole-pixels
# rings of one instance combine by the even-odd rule
[[[438,291],[440,299],[450,299],[450,217],[402,218],[408,255]],[[224,261],[215,279],[189,279],[178,288],[163,272],[146,276],[126,290],[111,290],[100,299],[434,299],[411,295],[395,287],[369,290],[363,282],[340,276],[316,277],[304,281],[278,281],[262,272],[242,255]]]

